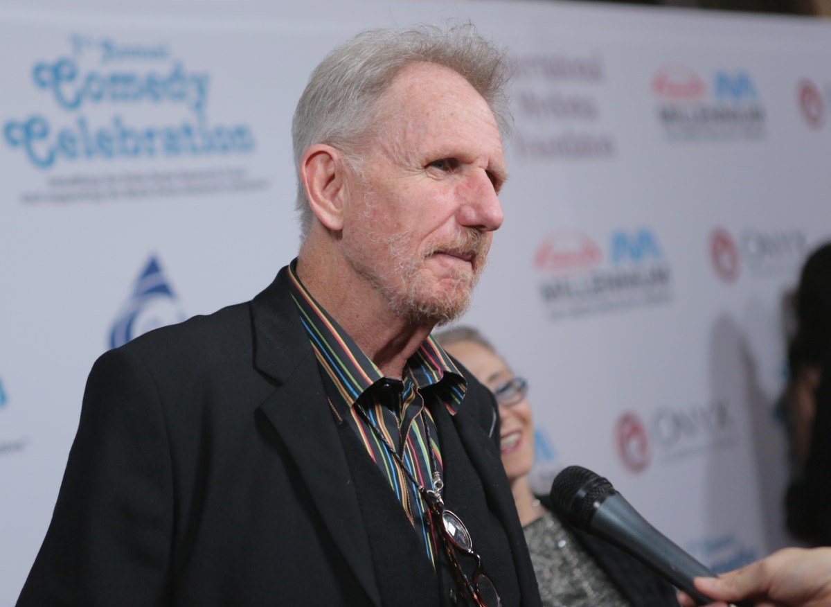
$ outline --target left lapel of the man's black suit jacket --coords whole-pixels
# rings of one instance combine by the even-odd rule
[[[352,473],[297,308],[287,270],[251,303],[254,365],[278,388],[260,410],[283,439],[332,539],[375,605],[381,604]]]

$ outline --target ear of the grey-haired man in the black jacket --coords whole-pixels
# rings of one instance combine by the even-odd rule
[[[334,231],[343,229],[344,165],[342,152],[322,143],[309,147],[300,160],[300,176],[312,213]]]

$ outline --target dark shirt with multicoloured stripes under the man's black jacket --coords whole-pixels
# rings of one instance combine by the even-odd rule
[[[436,440],[438,432],[429,407],[444,406],[450,415],[455,415],[465,396],[465,379],[431,337],[407,360],[401,380],[385,378],[308,293],[297,278],[295,265],[296,261],[288,267],[292,299],[322,373],[331,380],[333,389],[327,392],[339,396],[330,398],[329,404],[338,417],[347,419],[390,483],[424,543],[428,560],[435,567],[440,545],[430,532],[435,528],[430,521],[430,510],[381,437],[396,450],[412,476],[425,488],[432,488],[431,473],[442,473],[442,461]],[[357,407],[363,408],[375,429],[361,417]],[[429,446],[427,437],[430,437]]]

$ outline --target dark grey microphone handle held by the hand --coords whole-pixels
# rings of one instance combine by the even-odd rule
[[[714,602],[692,584],[694,577],[715,574],[687,554],[672,540],[649,524],[620,493],[608,496],[594,512],[587,531],[634,556],[676,588],[690,595],[698,605]],[[735,603],[750,607],[750,603]]]

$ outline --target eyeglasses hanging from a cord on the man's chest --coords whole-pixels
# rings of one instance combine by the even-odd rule
[[[440,519],[441,529],[444,531],[442,538],[445,540],[445,551],[450,563],[459,575],[462,585],[467,591],[470,598],[473,599],[477,607],[500,607],[502,600],[499,598],[499,592],[490,578],[484,574],[482,569],[482,557],[473,550],[473,543],[470,541],[470,531],[465,527],[465,523],[455,515],[453,511],[445,508],[445,502],[442,501],[441,496],[435,491],[426,491],[429,499],[427,503],[433,514]],[[455,547],[456,550],[464,552],[466,555],[472,556],[476,560],[476,568],[474,575],[470,578],[465,575],[459,561],[456,560],[453,550],[450,546]]]

